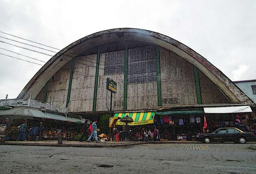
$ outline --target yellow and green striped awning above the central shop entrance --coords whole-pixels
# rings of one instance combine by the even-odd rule
[[[125,117],[128,115],[133,119],[133,122],[128,123],[130,126],[145,125],[154,123],[155,112],[128,112],[128,113],[116,113],[114,117]],[[125,125],[125,123],[118,120],[116,125]]]

